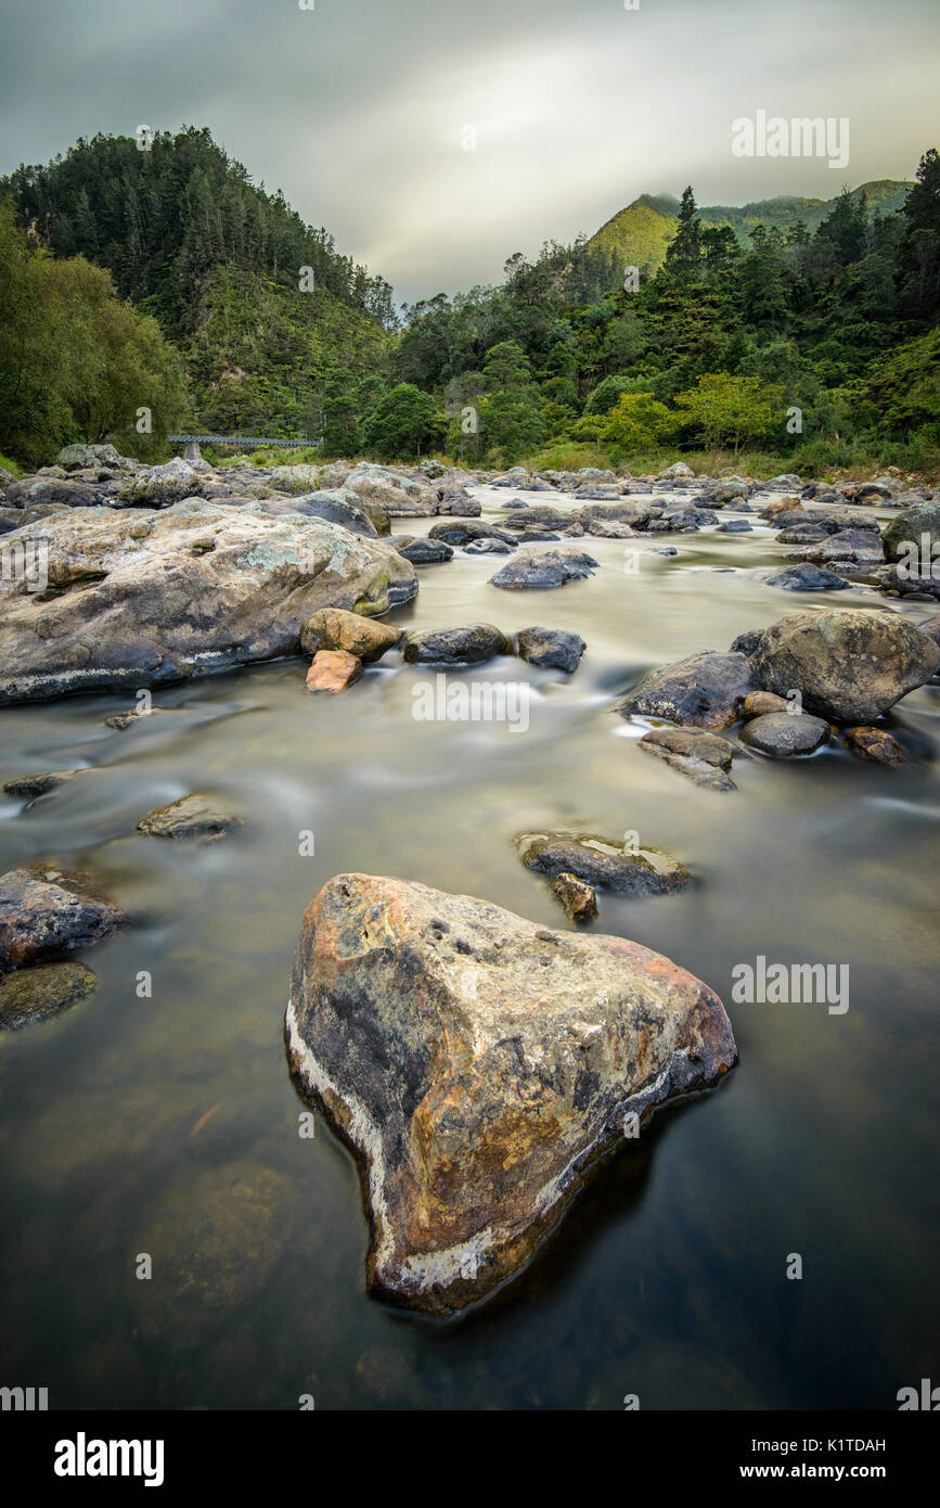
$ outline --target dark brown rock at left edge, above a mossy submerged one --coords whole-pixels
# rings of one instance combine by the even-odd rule
[[[89,875],[45,864],[0,876],[0,973],[90,947],[125,917]]]

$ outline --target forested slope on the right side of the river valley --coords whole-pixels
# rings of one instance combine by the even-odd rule
[[[603,244],[553,243],[511,258],[500,288],[410,309],[396,369],[438,395],[450,448],[503,461],[569,442],[609,458],[669,442],[798,451],[801,464],[935,455],[935,151],[892,214],[845,190],[815,232],[758,225],[743,246],[703,223],[688,188],[676,226],[655,276],[625,287]]]

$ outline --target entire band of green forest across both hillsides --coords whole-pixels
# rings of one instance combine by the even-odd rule
[[[399,320],[381,277],[340,256],[280,193],[255,187],[208,130],[158,133],[145,151],[96,136],[0,184],[12,205],[0,448],[48,458],[102,424],[124,433],[146,389],[155,434],[185,412],[220,433],[322,439],[334,455],[431,446],[506,464],[566,446],[616,463],[667,445],[761,445],[798,452],[794,464],[807,467],[899,448],[908,464],[932,464],[935,151],[898,207],[902,187],[875,185],[874,207],[850,188],[822,208],[768,201],[788,229],[750,225],[761,205],[703,216],[691,188],[679,202],[637,201],[670,216],[655,270],[625,267],[601,228],[569,246],[548,241],[533,259],[515,253],[499,287],[435,294]],[[801,204],[815,207],[815,226]],[[84,324],[66,284],[89,291]],[[27,300],[26,318],[14,299]],[[83,354],[56,371],[66,308]],[[104,363],[90,359],[95,347],[110,353]],[[96,404],[80,397],[81,362],[107,388]]]

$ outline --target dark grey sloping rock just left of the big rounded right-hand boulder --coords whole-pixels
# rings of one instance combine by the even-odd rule
[[[687,727],[719,730],[738,721],[744,697],[761,682],[744,654],[703,650],[672,665],[660,665],[612,712],[622,718],[663,718]]]

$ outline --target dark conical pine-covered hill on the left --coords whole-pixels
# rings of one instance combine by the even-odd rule
[[[3,195],[35,244],[107,268],[118,294],[157,318],[200,427],[313,437],[324,395],[387,365],[389,284],[252,184],[205,128],[158,133],[146,151],[96,136],[17,169]]]

